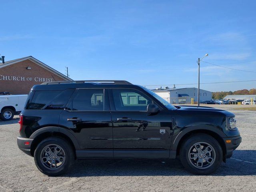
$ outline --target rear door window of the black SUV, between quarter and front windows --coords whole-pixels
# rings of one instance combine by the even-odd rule
[[[70,109],[79,111],[103,111],[103,89],[80,89],[74,97]]]

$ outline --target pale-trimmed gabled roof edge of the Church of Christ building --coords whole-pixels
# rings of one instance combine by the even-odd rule
[[[38,64],[39,66],[45,68],[46,70],[60,76],[61,78],[64,78],[65,80],[72,80],[70,78],[68,78],[66,75],[56,71],[55,69],[51,68],[50,66],[44,64],[43,62],[37,60],[36,58],[32,57],[32,56],[27,56],[27,57],[22,57],[22,58],[19,58],[19,59],[14,59],[14,60],[10,60],[10,61],[6,61],[4,63],[0,63],[0,68],[4,68],[6,66],[9,66],[9,65],[12,65],[12,64],[16,64],[18,62],[22,62],[24,60],[30,60],[36,64]]]

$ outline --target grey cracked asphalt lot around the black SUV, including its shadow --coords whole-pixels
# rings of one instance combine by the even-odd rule
[[[214,106],[216,107],[216,106]],[[256,191],[256,112],[236,114],[242,143],[212,175],[196,176],[179,160],[79,160],[69,173],[48,177],[18,149],[18,116],[0,121],[0,191]]]

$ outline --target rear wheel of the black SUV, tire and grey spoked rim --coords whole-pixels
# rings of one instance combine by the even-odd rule
[[[51,151],[48,150],[49,153],[46,152],[46,150],[48,149],[47,148],[48,146],[49,148],[51,148]],[[53,146],[57,146],[57,150],[56,150],[57,156],[58,155],[63,156],[63,158],[61,159],[63,161],[62,163],[60,162],[59,159],[57,159],[56,155],[54,157],[55,150]],[[45,148],[47,149],[45,150]],[[58,152],[58,150],[60,150],[60,152]],[[42,158],[42,156],[47,156],[47,157]],[[53,157],[56,158],[55,159],[56,164],[52,163]],[[51,159],[47,161],[47,158],[51,158]],[[43,174],[46,174],[48,176],[58,176],[58,175],[64,174],[70,168],[70,165],[74,160],[74,151],[70,146],[70,144],[66,142],[64,139],[58,138],[58,137],[49,137],[42,140],[42,142],[40,142],[36,147],[36,150],[34,152],[34,160],[36,163],[36,167]],[[47,162],[43,163],[42,161],[44,160],[46,160]],[[58,167],[57,164],[60,164],[60,166]],[[51,168],[53,165],[56,167]],[[50,166],[50,168],[48,166]]]

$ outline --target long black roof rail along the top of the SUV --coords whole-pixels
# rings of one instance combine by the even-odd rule
[[[102,84],[122,84],[122,85],[132,85],[128,81],[123,80],[79,80],[79,81],[52,81],[52,82],[44,82],[41,85],[48,85],[48,84],[61,84],[61,83],[86,83],[86,82],[95,82],[95,83],[102,83]]]

